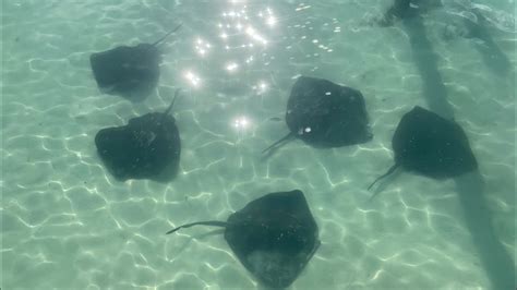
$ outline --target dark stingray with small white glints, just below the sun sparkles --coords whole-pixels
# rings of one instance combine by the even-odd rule
[[[368,122],[361,92],[327,80],[300,76],[287,101],[290,133],[263,153],[294,137],[322,148],[364,143],[373,137]]]

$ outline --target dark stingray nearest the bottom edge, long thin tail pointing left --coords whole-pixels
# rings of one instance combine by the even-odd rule
[[[320,246],[318,230],[303,193],[275,192],[250,202],[227,221],[183,225],[225,227],[225,240],[264,286],[291,285]]]

